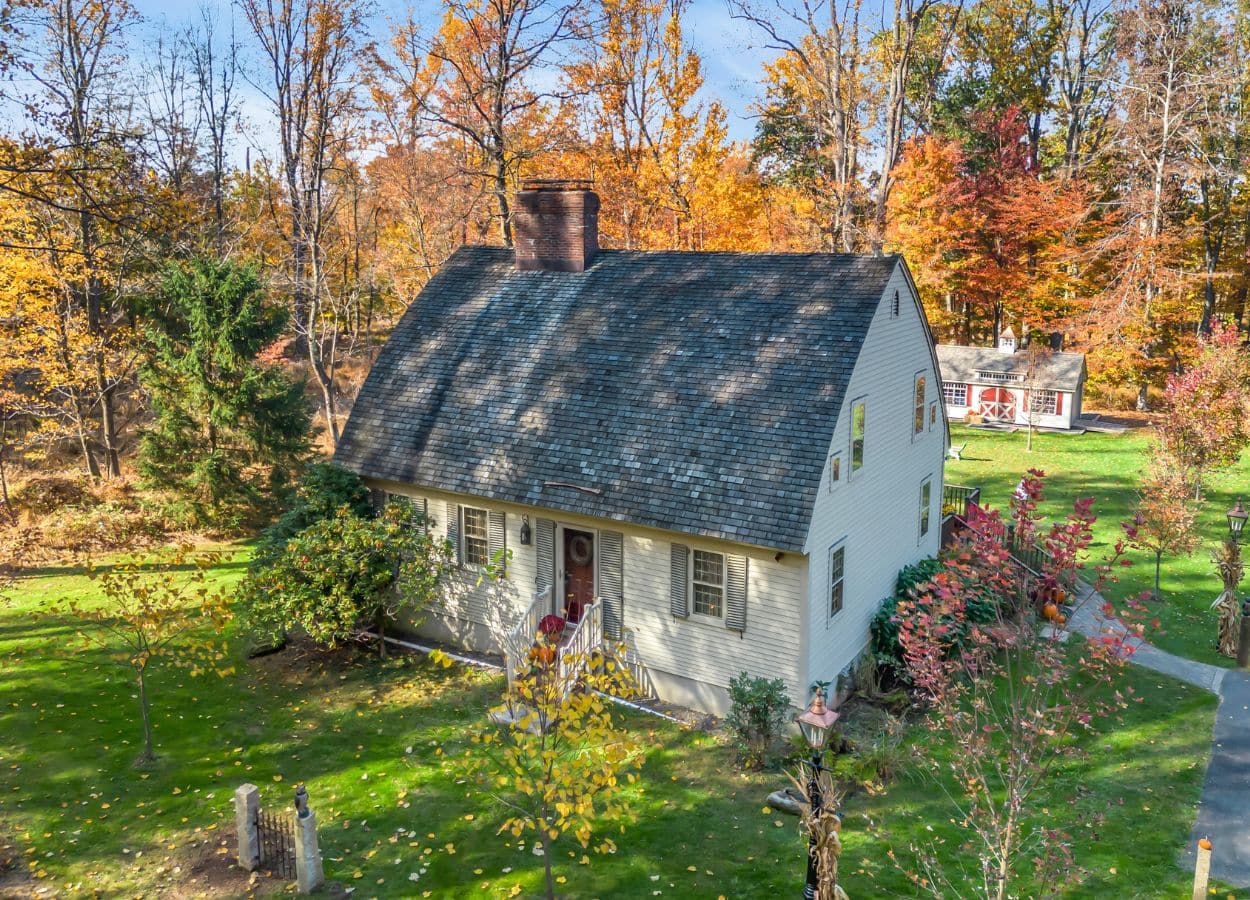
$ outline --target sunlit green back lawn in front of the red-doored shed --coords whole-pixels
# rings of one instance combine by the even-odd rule
[[[1079,496],[1095,498],[1095,545],[1098,559],[1122,535],[1120,524],[1132,516],[1140,472],[1150,451],[1145,429],[1124,435],[1036,434],[1032,452],[1025,451],[1024,432],[980,431],[951,426],[951,442],[968,442],[962,461],[946,464],[951,484],[980,486],[984,499],[1005,509],[1026,469],[1046,472],[1050,504],[1046,511],[1061,515]],[[1219,578],[1210,551],[1228,535],[1225,514],[1239,498],[1250,500],[1250,455],[1231,470],[1208,479],[1199,510],[1201,546],[1190,556],[1164,558],[1161,604],[1154,605],[1161,629],[1150,636],[1154,644],[1181,656],[1231,666],[1232,660],[1215,651],[1216,618],[1211,601],[1219,596]],[[1130,551],[1134,565],[1119,570],[1119,584],[1106,591],[1112,598],[1154,589],[1154,559]]]

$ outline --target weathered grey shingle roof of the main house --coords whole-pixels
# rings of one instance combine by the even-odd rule
[[[584,272],[521,272],[510,250],[461,248],[396,325],[335,459],[366,478],[801,550],[899,265],[604,250]]]

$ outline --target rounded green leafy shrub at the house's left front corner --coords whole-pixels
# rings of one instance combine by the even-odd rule
[[[259,561],[239,600],[260,638],[279,642],[300,628],[316,644],[335,648],[374,628],[385,656],[386,624],[434,600],[451,561],[450,544],[429,534],[410,504],[392,500],[376,519],[342,508]]]

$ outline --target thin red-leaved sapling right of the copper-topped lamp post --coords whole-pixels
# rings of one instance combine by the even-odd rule
[[[1031,470],[1011,502],[1021,541],[1046,550],[1040,572],[1011,561],[1001,515],[979,509],[944,552],[941,570],[916,589],[924,602],[899,605],[904,659],[941,738],[916,746],[951,799],[951,821],[966,834],[966,854],[911,848],[905,871],[934,896],[1055,892],[1074,870],[1065,842],[1056,840],[1066,812],[1051,808],[1039,819],[1040,789],[1079,752],[1078,735],[1125,702],[1115,681],[1129,655],[1125,640],[1141,634],[1140,601],[1106,604],[1102,614],[1116,625],[1079,648],[1036,615],[1038,596],[1076,581],[1095,521],[1092,501],[1078,500],[1066,519],[1044,528],[1036,511],[1042,479]],[[1095,589],[1122,565],[1122,552],[1120,541],[1098,566]],[[981,596],[986,589],[998,595],[999,614],[986,624],[969,620],[970,591]]]

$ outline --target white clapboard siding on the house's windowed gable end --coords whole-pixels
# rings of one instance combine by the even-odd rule
[[[891,315],[894,291],[902,296]],[[942,461],[946,418],[941,381],[929,351],[930,338],[919,301],[900,266],[886,286],[834,430],[830,455],[841,452],[841,480],[825,466],[812,510],[806,552],[810,559],[808,672],[805,680],[835,682],[869,641],[881,601],[894,592],[900,569],[938,552],[941,535]],[[912,434],[914,379],[925,375],[925,429]],[[866,400],[864,466],[850,465],[851,405]],[[929,406],[942,415],[930,426]],[[920,536],[921,482],[930,480],[929,531]],[[830,550],[845,548],[842,609],[828,612]]]

